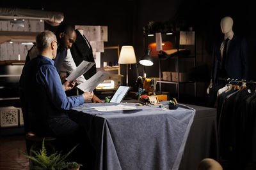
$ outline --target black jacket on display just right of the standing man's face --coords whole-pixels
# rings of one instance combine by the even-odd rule
[[[74,62],[76,63],[76,66],[79,66],[79,64],[83,60],[86,60],[88,62],[95,62],[92,53],[92,46],[90,45],[89,41],[77,30],[76,34],[76,42],[72,45],[72,48],[70,48],[70,52],[72,54]],[[90,48],[87,45],[85,39],[88,41]],[[96,73],[96,71],[96,64],[94,64],[92,68],[90,68],[86,73],[84,73],[84,78],[88,80]]]

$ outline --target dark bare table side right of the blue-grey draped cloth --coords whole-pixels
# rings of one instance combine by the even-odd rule
[[[179,170],[196,170],[204,158],[219,160],[216,109],[186,104],[196,110]]]

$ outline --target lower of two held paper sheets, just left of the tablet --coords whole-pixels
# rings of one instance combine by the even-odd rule
[[[77,85],[77,88],[81,89],[83,92],[92,92],[99,83],[102,83],[102,81],[107,78],[108,73],[103,71],[98,71],[96,74],[94,74],[89,80],[84,81],[80,85]]]

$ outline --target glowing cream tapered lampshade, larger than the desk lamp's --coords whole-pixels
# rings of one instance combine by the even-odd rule
[[[136,64],[136,57],[133,46],[122,46],[118,63],[119,64]]]

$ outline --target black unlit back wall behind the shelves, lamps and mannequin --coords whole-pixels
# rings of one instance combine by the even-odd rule
[[[198,105],[204,105],[206,89],[211,74],[212,47],[223,37],[220,20],[230,16],[234,20],[233,31],[248,41],[250,55],[250,80],[256,80],[255,6],[253,1],[203,1],[203,0],[123,0],[123,1],[2,1],[0,7],[27,8],[33,10],[59,11],[64,13],[64,22],[73,25],[106,25],[108,42],[104,46],[133,45],[137,61],[145,52],[143,27],[150,20],[165,22],[175,17],[186,19],[196,33],[196,85]],[[45,25],[47,27],[47,25]],[[147,76],[158,73],[158,62],[146,67]],[[163,68],[165,69],[165,68]],[[143,67],[139,67],[142,75]],[[126,67],[121,66],[126,75]],[[129,70],[129,85],[134,87],[136,67]],[[125,78],[124,78],[125,83]],[[166,87],[167,90],[169,87]],[[171,88],[171,87],[170,87]],[[184,87],[189,90],[190,87]],[[134,88],[136,89],[136,88]]]

